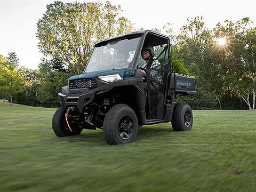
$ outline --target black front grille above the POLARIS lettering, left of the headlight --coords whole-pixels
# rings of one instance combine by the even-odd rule
[[[94,78],[85,78],[85,79],[75,79],[69,81],[69,89],[94,89],[98,86]]]

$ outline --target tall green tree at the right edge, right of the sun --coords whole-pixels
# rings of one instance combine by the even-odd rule
[[[215,37],[225,37],[226,44],[221,46],[220,54],[228,92],[241,97],[249,109],[255,109],[256,85],[256,30],[250,28],[249,18],[237,22],[225,21],[214,28]],[[252,105],[250,95],[252,95]]]

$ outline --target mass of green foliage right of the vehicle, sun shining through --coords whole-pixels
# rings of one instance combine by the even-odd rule
[[[216,99],[219,99],[221,108],[221,102],[226,102],[223,106],[227,106],[227,98],[239,101],[241,97],[249,109],[255,108],[256,34],[255,28],[249,27],[250,23],[249,18],[242,18],[235,23],[225,21],[225,26],[218,23],[213,30],[209,30],[204,26],[202,17],[195,17],[188,18],[181,28],[177,40],[173,41],[172,55],[183,62],[189,74],[196,76],[197,83],[201,82],[194,97],[202,101],[196,101],[198,105],[204,103],[202,105],[207,107],[209,99],[212,99],[210,103],[214,106]],[[163,31],[169,33],[169,37],[173,36],[170,24],[164,26]],[[220,37],[227,39],[225,45],[216,43],[215,40]],[[205,92],[204,87],[211,89]],[[194,99],[187,100],[193,103]],[[241,103],[234,103],[237,103],[236,108],[243,108]]]

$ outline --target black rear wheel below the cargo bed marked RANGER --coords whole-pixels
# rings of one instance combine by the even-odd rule
[[[172,115],[173,131],[189,131],[193,124],[191,107],[187,103],[178,103],[174,106]]]

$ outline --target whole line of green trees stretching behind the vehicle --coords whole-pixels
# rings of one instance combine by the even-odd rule
[[[172,43],[173,71],[196,76],[194,97],[183,97],[194,109],[255,109],[256,28],[249,18],[205,27],[203,17],[188,18],[178,34],[167,23],[153,29]],[[37,22],[38,69],[19,67],[15,53],[0,55],[0,98],[31,106],[57,107],[67,78],[83,72],[93,45],[130,33],[133,23],[121,6],[101,3],[47,5]],[[220,40],[222,42],[220,42]]]

